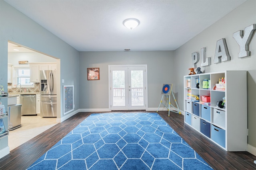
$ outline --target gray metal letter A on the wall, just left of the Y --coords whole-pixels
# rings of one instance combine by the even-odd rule
[[[230,55],[228,53],[228,47],[226,39],[222,38],[216,43],[216,50],[213,63],[221,63],[222,61],[229,61]]]

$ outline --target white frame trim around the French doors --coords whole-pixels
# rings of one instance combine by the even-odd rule
[[[111,110],[111,67],[145,67],[145,105],[146,110],[148,109],[148,65],[147,64],[128,64],[128,65],[108,65],[108,108]]]

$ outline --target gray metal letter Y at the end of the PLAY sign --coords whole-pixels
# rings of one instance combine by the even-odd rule
[[[254,31],[256,30],[256,24],[252,24],[243,30],[233,33],[233,38],[236,40],[240,46],[240,52],[238,53],[238,58],[250,56],[249,45],[253,36]]]

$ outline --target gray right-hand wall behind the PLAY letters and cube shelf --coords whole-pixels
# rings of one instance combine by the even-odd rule
[[[221,20],[217,21],[202,33],[182,45],[175,51],[175,66],[176,66],[176,92],[179,104],[183,104],[183,76],[188,75],[188,68],[192,67],[193,52],[200,54],[200,49],[206,47],[206,57],[211,58],[211,65],[202,67],[204,72],[216,72],[222,70],[247,70],[247,99],[248,99],[248,144],[256,147],[256,33],[250,43],[251,56],[238,59],[239,45],[233,38],[233,33],[239,30],[244,30],[249,25],[256,24],[256,1],[250,0],[239,6],[236,10],[226,15]],[[230,61],[214,64],[214,53],[216,42],[219,39],[225,38],[228,46],[228,51],[231,56]],[[197,66],[201,64],[200,61]],[[239,77],[238,77],[239,80]],[[239,90],[239,89],[238,89]],[[238,100],[239,100],[239,96]],[[182,105],[182,110],[184,106]],[[246,113],[241,113],[245,114]],[[238,125],[239,126],[239,125]]]

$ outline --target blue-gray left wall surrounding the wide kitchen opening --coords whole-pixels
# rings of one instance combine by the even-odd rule
[[[74,85],[75,94],[78,94],[79,52],[2,0],[0,0],[0,25],[0,84],[7,89],[8,40],[60,59],[61,101],[58,118],[63,117],[62,86]],[[61,79],[64,79],[65,83],[60,84]],[[79,108],[78,95],[75,95],[74,102],[76,110]]]

